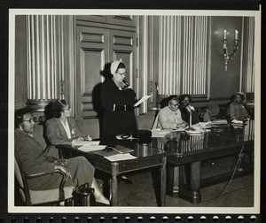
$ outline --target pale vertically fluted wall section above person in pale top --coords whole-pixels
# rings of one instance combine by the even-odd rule
[[[207,95],[210,20],[160,16],[159,94]]]

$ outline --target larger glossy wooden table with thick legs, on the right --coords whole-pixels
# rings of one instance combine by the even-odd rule
[[[172,174],[172,179],[168,179],[168,186],[171,187],[171,194],[197,204],[201,201],[201,186],[227,181],[232,174],[231,172],[223,173],[202,181],[202,161],[229,156],[238,158],[237,155],[242,149],[243,152],[252,153],[254,150],[254,120],[248,121],[243,128],[221,126],[200,135],[187,135],[184,132],[176,133],[176,137],[172,140],[153,138],[151,146],[168,151],[168,174],[169,172]],[[189,184],[180,188],[179,167],[182,165],[188,165],[190,173],[188,176]],[[246,169],[246,173],[253,173],[253,171],[252,162],[252,167]],[[241,172],[241,175],[244,173],[245,171]]]

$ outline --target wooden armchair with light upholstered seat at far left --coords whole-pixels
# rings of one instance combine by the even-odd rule
[[[59,188],[48,190],[32,190],[28,187],[29,179],[40,178],[48,174],[59,174],[62,177]],[[69,201],[72,198],[74,186],[64,187],[66,183],[66,174],[56,170],[55,173],[36,173],[27,175],[24,173],[20,158],[15,152],[15,179],[18,184],[19,194],[22,202],[26,205],[44,205],[57,204]]]

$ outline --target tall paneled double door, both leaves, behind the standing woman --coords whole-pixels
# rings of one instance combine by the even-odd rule
[[[121,30],[117,25],[95,27],[90,23],[77,24],[75,34],[75,118],[86,128],[96,127],[99,87],[104,81],[100,73],[106,63],[121,58],[127,68],[126,81],[137,92],[137,33]]]

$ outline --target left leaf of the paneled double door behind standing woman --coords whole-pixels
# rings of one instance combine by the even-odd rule
[[[108,62],[108,30],[76,27],[76,118],[95,119],[93,92],[103,81],[100,73]]]

